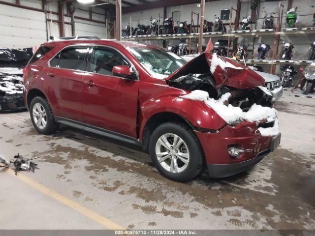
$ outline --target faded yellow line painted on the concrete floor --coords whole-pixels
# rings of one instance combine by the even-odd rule
[[[15,176],[14,171],[12,169],[8,169],[6,171],[7,173]],[[45,185],[21,174],[20,172],[18,173],[17,177],[19,180],[22,180],[24,183],[28,184],[32,188],[38,190],[39,192],[42,192],[43,194],[57,200],[58,202],[64,204],[67,207],[70,207],[81,214],[89,217],[90,219],[94,220],[95,222],[105,226],[106,228],[110,230],[124,230],[126,228],[123,228],[119,224],[116,224],[115,222],[111,221],[110,219],[107,219],[106,217],[95,213],[94,211],[88,209],[87,207],[83,207],[80,204],[73,202],[72,200],[68,199],[67,197],[64,197],[60,193],[56,192],[55,190],[46,187]]]

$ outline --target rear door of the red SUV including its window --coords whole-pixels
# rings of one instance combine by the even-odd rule
[[[54,93],[55,116],[83,122],[83,75],[90,48],[66,47],[50,60],[46,73]]]

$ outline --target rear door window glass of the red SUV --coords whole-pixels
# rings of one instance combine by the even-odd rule
[[[51,59],[50,66],[84,71],[89,50],[87,46],[65,48]]]

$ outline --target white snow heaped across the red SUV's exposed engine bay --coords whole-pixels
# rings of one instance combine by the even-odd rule
[[[240,107],[233,107],[231,104],[227,106],[224,102],[228,100],[231,93],[223,94],[218,100],[209,98],[209,94],[206,91],[194,90],[189,94],[181,96],[182,98],[204,101],[207,106],[211,107],[216,113],[223,118],[226,123],[233,124],[238,121],[260,121],[267,120],[267,122],[273,122],[273,127],[258,128],[262,136],[274,136],[279,134],[277,111],[274,108],[263,107],[261,105],[253,104],[248,112],[243,112]]]

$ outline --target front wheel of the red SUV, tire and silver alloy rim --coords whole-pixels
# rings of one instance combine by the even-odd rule
[[[174,139],[172,140],[172,138],[175,137],[172,135],[176,135],[183,141],[178,148],[171,147],[174,144]],[[162,139],[163,136],[168,137],[166,138],[166,145],[165,143],[162,145],[158,141]],[[180,143],[180,141],[178,143]],[[165,146],[169,148],[166,149]],[[202,170],[204,157],[201,145],[193,131],[184,124],[168,122],[159,125],[150,137],[149,152],[158,172],[171,180],[178,182],[189,181],[200,174]],[[167,159],[159,162],[157,157],[158,152],[166,153],[161,155],[159,159],[164,159],[165,157]],[[173,155],[173,157],[171,155]],[[182,160],[187,162],[184,163]],[[176,162],[177,168],[172,165],[172,161],[174,164]]]

